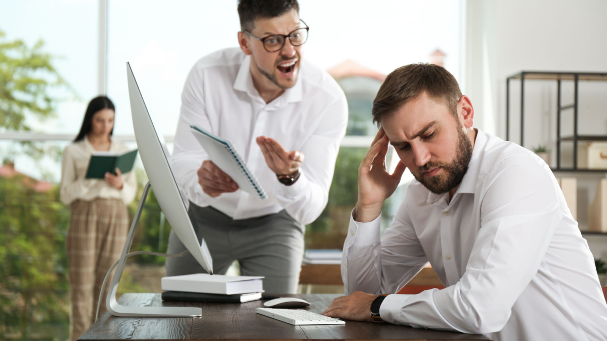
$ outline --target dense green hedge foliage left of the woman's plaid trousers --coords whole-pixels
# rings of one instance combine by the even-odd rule
[[[40,193],[25,183],[23,176],[0,178],[0,336],[69,323],[69,211],[57,189]]]

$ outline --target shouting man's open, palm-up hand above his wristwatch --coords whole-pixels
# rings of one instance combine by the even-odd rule
[[[304,163],[304,154],[297,150],[287,152],[280,143],[273,138],[257,137],[257,144],[262,149],[268,167],[276,175],[290,175]]]

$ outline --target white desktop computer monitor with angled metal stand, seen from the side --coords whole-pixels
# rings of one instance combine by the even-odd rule
[[[139,155],[143,162],[143,167],[148,174],[149,182],[141,195],[141,200],[137,208],[137,213],[133,218],[131,229],[127,236],[127,241],[124,244],[120,260],[117,265],[116,274],[112,279],[112,284],[107,293],[106,306],[110,314],[115,316],[201,316],[202,309],[194,307],[168,307],[168,306],[123,306],[116,301],[116,290],[118,282],[124,269],[126,255],[131,248],[131,243],[135,235],[135,229],[143,209],[143,204],[148,195],[150,185],[154,188],[154,193],[160,204],[160,208],[164,212],[166,219],[169,221],[171,228],[179,237],[183,245],[194,258],[205,268],[209,274],[213,274],[213,265],[211,254],[203,240],[201,245],[198,245],[198,237],[194,232],[192,223],[188,217],[186,204],[181,197],[180,191],[175,182],[175,177],[171,171],[168,161],[168,150],[160,141],[152,118],[149,115],[146,104],[143,101],[143,96],[135,76],[131,70],[129,63],[126,63],[127,80],[129,83],[129,97],[131,99],[131,115],[133,117],[133,127],[135,130],[135,140],[139,148]]]

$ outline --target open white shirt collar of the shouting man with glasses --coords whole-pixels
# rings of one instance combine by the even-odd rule
[[[299,75],[297,76],[295,86],[285,90],[282,95],[278,96],[276,100],[271,101],[268,105],[272,104],[276,107],[285,107],[289,103],[296,103],[302,100],[302,69],[303,63],[300,64]],[[240,64],[240,69],[238,70],[236,80],[234,81],[234,90],[246,92],[251,98],[262,101],[265,104],[265,101],[263,101],[263,98],[259,95],[259,92],[257,92],[257,89],[255,89],[255,86],[253,85],[253,76],[251,76],[251,56],[245,56],[242,64]]]

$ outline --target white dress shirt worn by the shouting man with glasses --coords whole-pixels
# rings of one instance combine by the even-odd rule
[[[253,86],[250,62],[240,49],[225,49],[200,59],[190,71],[171,158],[175,180],[192,203],[210,205],[234,219],[285,209],[300,223],[311,223],[327,204],[339,141],[345,135],[344,92],[327,72],[302,61],[296,85],[266,104]],[[231,141],[268,199],[242,190],[216,198],[206,195],[196,171],[208,155],[192,135],[192,124]],[[304,153],[296,183],[279,183],[255,141],[261,135]]]

